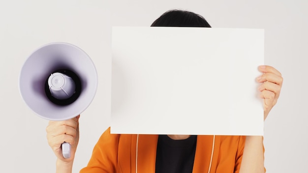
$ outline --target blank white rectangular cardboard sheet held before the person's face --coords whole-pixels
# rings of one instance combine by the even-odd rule
[[[263,135],[263,29],[112,32],[111,133]]]

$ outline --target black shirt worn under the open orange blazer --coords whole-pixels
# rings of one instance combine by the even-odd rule
[[[159,135],[156,151],[155,173],[192,173],[197,136],[173,140]]]

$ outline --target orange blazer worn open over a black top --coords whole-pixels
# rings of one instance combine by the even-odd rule
[[[158,135],[110,134],[109,127],[94,146],[88,166],[80,173],[155,173],[157,139]],[[197,137],[192,173],[208,173],[213,139],[214,136]],[[215,136],[210,173],[239,173],[245,139]]]

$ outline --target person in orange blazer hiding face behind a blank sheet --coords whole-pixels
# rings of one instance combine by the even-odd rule
[[[211,27],[200,15],[170,10],[152,27]],[[282,77],[274,67],[260,65],[257,90],[264,99],[264,120],[276,105]],[[244,73],[244,72],[243,72]],[[50,121],[48,143],[57,156],[57,173],[71,173],[79,141],[80,115]],[[71,144],[64,159],[61,144]],[[88,166],[80,173],[264,173],[262,136],[194,136],[110,134],[110,127],[94,146]]]

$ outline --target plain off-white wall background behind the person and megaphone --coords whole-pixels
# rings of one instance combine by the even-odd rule
[[[307,0],[1,0],[0,172],[55,172],[48,121],[34,115],[18,91],[19,71],[32,51],[69,42],[87,52],[97,68],[96,96],[80,118],[77,173],[110,125],[111,26],[150,26],[174,8],[199,13],[216,28],[265,29],[265,63],[284,78],[265,121],[265,166],[268,173],[307,172],[307,7]]]

